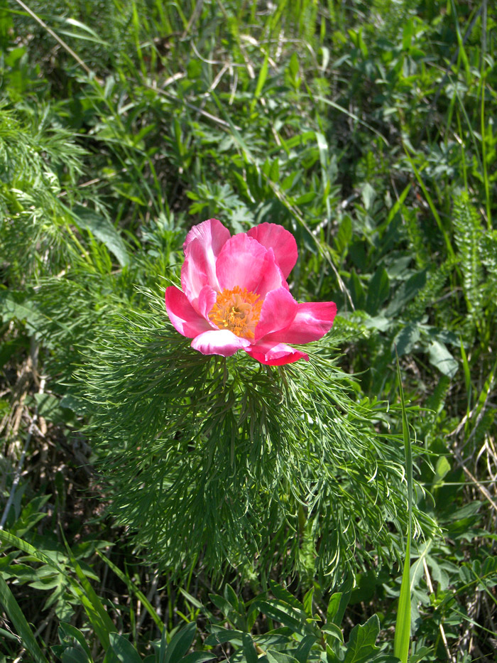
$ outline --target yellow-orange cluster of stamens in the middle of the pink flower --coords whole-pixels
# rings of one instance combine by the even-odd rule
[[[217,300],[209,320],[219,329],[229,329],[237,336],[253,338],[253,332],[261,316],[262,301],[255,292],[235,286],[233,290],[223,290]]]

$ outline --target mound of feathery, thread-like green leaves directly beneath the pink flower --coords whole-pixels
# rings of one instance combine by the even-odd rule
[[[178,576],[199,559],[214,575],[315,565],[324,584],[398,558],[403,447],[386,408],[355,404],[323,345],[281,369],[205,357],[153,301],[107,320],[77,372],[110,511],[146,555]]]

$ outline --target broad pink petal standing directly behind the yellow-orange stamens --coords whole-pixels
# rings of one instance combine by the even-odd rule
[[[220,290],[239,286],[265,297],[268,291],[281,286],[288,288],[273,251],[244,232],[224,244],[217,259],[216,274]]]

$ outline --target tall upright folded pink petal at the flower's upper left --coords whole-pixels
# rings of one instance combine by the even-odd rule
[[[181,286],[193,306],[204,286],[219,289],[216,259],[229,237],[229,230],[217,219],[199,223],[188,233],[183,244],[185,262],[181,269]]]

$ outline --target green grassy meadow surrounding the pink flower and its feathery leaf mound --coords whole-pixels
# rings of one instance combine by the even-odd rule
[[[495,660],[496,40],[486,0],[0,0],[1,662]],[[351,399],[413,447],[402,596],[402,518],[327,576],[300,511],[297,571],[178,570],[119,517],[92,406],[209,217],[293,232]]]

